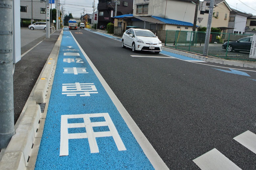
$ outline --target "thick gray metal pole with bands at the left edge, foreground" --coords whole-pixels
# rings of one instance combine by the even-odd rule
[[[0,0],[0,149],[6,148],[14,131],[12,0]]]

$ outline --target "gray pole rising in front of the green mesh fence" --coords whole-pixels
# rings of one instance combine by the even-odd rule
[[[211,0],[210,1],[210,7],[209,7],[210,11],[209,11],[206,34],[205,34],[204,47],[203,47],[203,55],[204,56],[208,55],[208,48],[209,48],[209,41],[210,41],[210,34],[211,34],[211,26],[212,26],[213,6],[214,6],[214,0]]]

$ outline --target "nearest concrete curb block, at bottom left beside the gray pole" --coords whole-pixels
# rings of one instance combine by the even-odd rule
[[[26,169],[39,125],[39,105],[29,105],[1,160],[0,169]]]

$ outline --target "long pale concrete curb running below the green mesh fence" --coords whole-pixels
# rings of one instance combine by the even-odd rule
[[[199,60],[206,61],[206,62],[213,62],[213,63],[218,63],[218,64],[232,65],[232,66],[239,66],[239,67],[247,67],[247,68],[256,68],[256,64],[254,64],[254,63],[244,63],[244,62],[238,62],[238,61],[208,58],[208,57],[200,56],[200,55],[197,55],[197,54],[191,54],[191,53],[188,53],[188,52],[178,51],[178,50],[170,49],[170,48],[166,48],[166,47],[163,47],[163,50],[174,53],[174,54],[179,54],[179,55],[182,55],[182,56],[186,56],[186,57],[190,57],[190,58],[194,58],[194,59],[199,59]]]

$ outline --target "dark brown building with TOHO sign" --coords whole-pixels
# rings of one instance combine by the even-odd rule
[[[117,5],[117,6],[116,6]],[[117,9],[117,11],[115,11]],[[98,2],[98,27],[114,22],[115,13],[118,15],[131,14],[133,0],[99,0]]]

